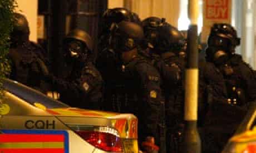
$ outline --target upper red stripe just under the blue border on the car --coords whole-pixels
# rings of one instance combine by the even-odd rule
[[[0,134],[0,142],[64,142],[60,134]]]

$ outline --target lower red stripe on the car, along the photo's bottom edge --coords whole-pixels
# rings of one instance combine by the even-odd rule
[[[65,153],[64,149],[0,149],[4,153]]]

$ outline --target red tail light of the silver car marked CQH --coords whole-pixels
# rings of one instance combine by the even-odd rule
[[[119,133],[110,127],[97,127],[93,128],[93,130],[77,129],[75,132],[82,137],[83,140],[101,150],[110,152],[123,151]]]

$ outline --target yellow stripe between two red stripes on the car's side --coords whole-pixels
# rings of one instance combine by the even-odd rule
[[[64,148],[64,142],[4,142],[0,143],[0,149],[26,149],[26,148]]]

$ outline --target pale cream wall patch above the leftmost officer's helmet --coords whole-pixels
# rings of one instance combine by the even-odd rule
[[[16,2],[18,4],[16,12],[27,17],[31,32],[29,39],[37,42],[37,0],[16,0]]]

